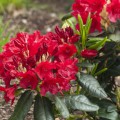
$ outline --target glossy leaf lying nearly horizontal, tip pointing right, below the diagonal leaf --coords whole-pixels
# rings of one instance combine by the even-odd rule
[[[68,108],[87,112],[97,111],[99,106],[91,103],[84,95],[66,96],[62,99]]]

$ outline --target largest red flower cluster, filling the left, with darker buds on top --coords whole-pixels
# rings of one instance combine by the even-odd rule
[[[56,33],[41,35],[18,33],[3,47],[0,54],[0,78],[5,82],[5,99],[14,99],[16,89],[40,88],[41,95],[46,92],[56,94],[67,91],[70,81],[75,80],[78,71],[77,52],[74,45],[78,36],[68,27]],[[11,92],[9,91],[11,90]]]

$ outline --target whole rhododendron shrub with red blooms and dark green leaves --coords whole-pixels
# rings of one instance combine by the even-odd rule
[[[0,91],[11,104],[20,96],[9,120],[24,120],[32,104],[34,120],[120,120],[119,0],[75,0],[63,20],[3,46]]]

